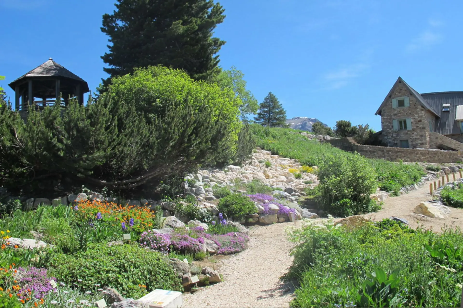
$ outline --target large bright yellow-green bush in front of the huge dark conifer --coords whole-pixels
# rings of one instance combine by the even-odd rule
[[[135,69],[131,75],[113,78],[109,91],[104,93],[101,99],[106,96],[133,105],[138,114],[143,113],[147,119],[153,120],[162,119],[167,115],[172,103],[180,109],[191,105],[194,114],[200,110],[208,109],[210,110],[207,115],[209,121],[227,123],[222,127],[222,138],[216,141],[223,151],[216,152],[214,158],[220,162],[227,162],[233,159],[236,154],[238,132],[241,129],[239,107],[243,102],[236,97],[230,88],[221,88],[217,84],[194,81],[186,72],[181,70],[150,66]],[[192,122],[180,123],[176,123],[178,127],[169,128],[181,130],[181,127],[185,127],[184,129],[188,131],[189,127],[194,124]],[[183,141],[181,136],[178,138]],[[198,143],[190,146],[198,147],[199,145]],[[213,151],[211,150],[211,152]]]

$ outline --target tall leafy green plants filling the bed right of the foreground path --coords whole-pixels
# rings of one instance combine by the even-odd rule
[[[383,220],[347,228],[333,219],[290,231],[292,307],[459,307],[463,233]]]

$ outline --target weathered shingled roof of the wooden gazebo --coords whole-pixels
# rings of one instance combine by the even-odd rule
[[[64,66],[59,65],[53,59],[48,59],[45,63],[37,66],[30,72],[25,73],[23,76],[19,77],[18,79],[15,79],[13,82],[9,84],[9,86],[14,90],[16,85],[22,84],[21,81],[24,79],[37,79],[41,77],[63,77],[63,78],[69,78],[69,79],[74,79],[76,81],[81,82],[83,85],[82,91],[83,93],[87,93],[90,91],[88,89],[88,84],[85,80],[81,79],[79,76],[76,74],[70,72],[67,70]]]

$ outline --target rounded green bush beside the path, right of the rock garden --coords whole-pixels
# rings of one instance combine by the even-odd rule
[[[327,156],[317,175],[320,181],[317,190],[326,212],[350,216],[378,209],[369,198],[377,185],[375,171],[360,154]]]

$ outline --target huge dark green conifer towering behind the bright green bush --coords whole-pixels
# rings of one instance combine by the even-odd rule
[[[103,15],[101,31],[110,38],[101,59],[111,77],[135,67],[163,65],[206,80],[219,72],[220,47],[212,37],[225,11],[213,0],[118,0],[113,14]],[[108,84],[108,80],[103,80]]]

